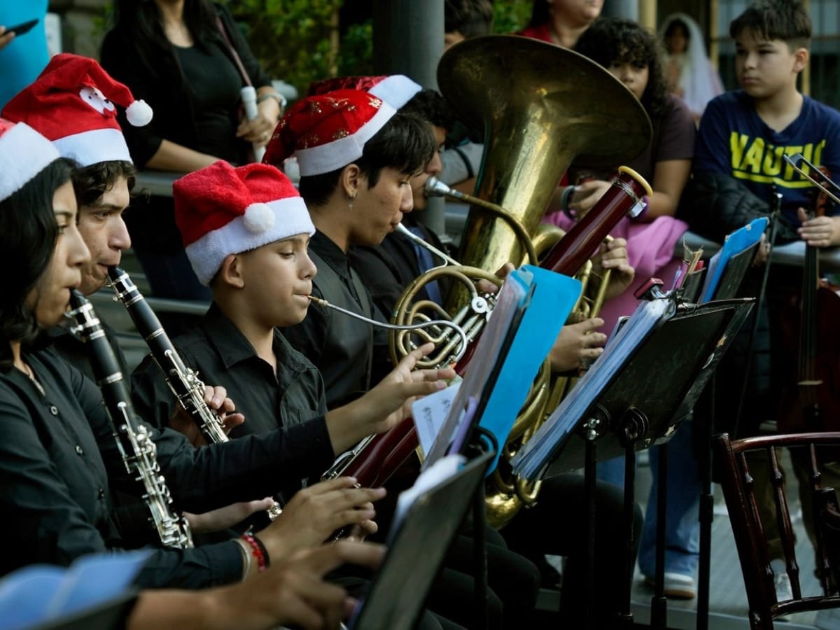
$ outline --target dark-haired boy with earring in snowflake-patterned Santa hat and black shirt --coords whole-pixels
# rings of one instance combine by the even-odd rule
[[[304,98],[278,123],[268,164],[297,156],[300,191],[316,232],[310,255],[318,266],[312,295],[376,317],[347,256],[352,244],[379,244],[411,212],[411,176],[432,158],[434,139],[422,120],[396,113],[380,98],[338,90]],[[286,339],[318,366],[328,406],[370,389],[390,370],[385,335],[370,324],[313,306]]]

